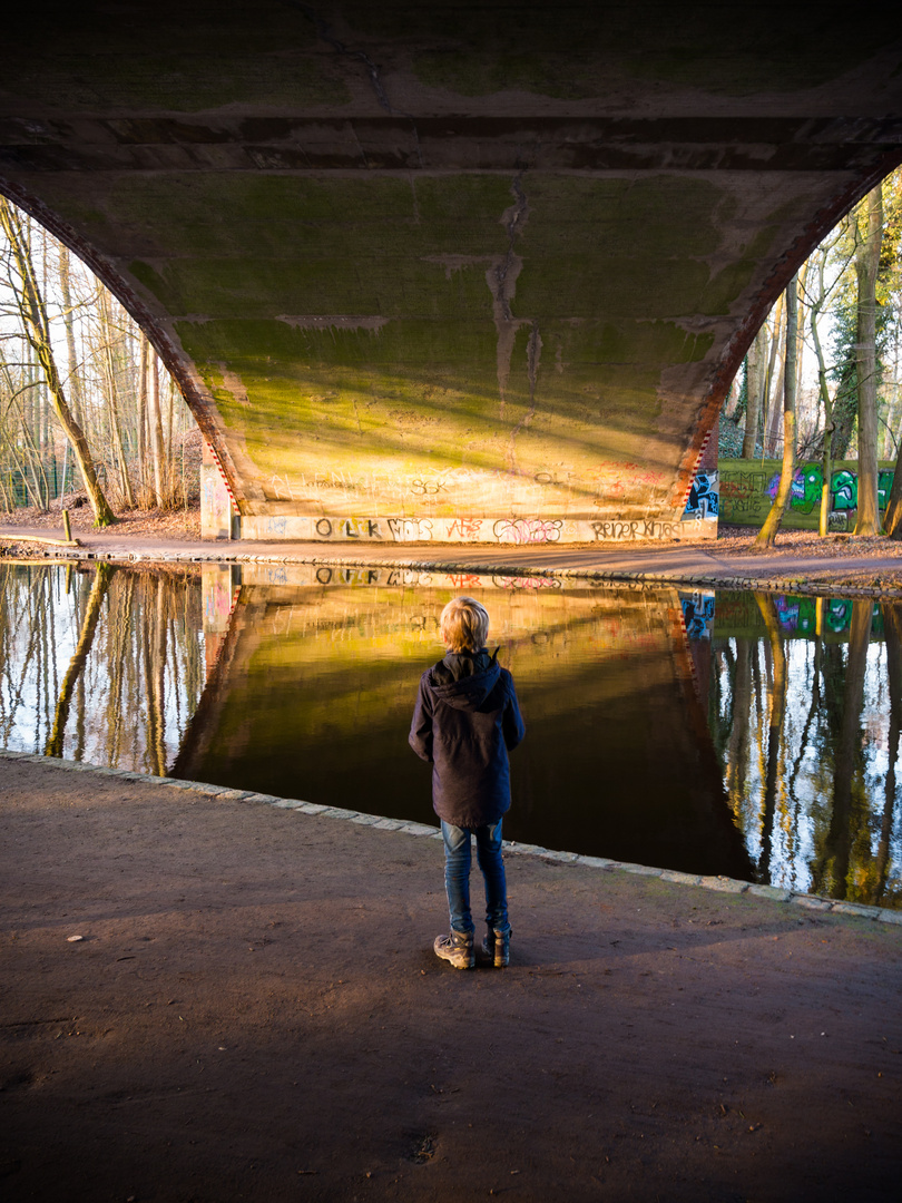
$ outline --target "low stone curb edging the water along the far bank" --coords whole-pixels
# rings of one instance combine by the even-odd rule
[[[7,540],[8,541],[8,540]],[[23,543],[28,540],[23,538]],[[124,563],[124,564],[321,564],[328,568],[386,568],[404,569],[419,573],[471,573],[476,576],[539,576],[551,580],[586,580],[605,581],[616,585],[618,582],[636,582],[639,585],[667,585],[684,587],[692,585],[696,588],[710,589],[753,589],[760,593],[789,593],[791,595],[813,597],[870,597],[870,598],[898,598],[902,589],[892,586],[873,585],[841,585],[829,581],[808,581],[788,576],[736,576],[719,574],[694,573],[634,573],[628,569],[593,569],[593,568],[546,568],[529,567],[527,564],[473,564],[461,561],[417,561],[417,559],[355,559],[348,556],[278,556],[275,553],[260,556],[242,552],[162,552],[160,555],[144,555],[133,551],[85,551],[83,547],[60,549],[59,551],[44,551],[29,553],[29,558],[46,558],[53,561],[84,561]],[[821,561],[815,561],[821,563]]]

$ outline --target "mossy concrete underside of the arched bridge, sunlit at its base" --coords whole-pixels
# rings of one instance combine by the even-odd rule
[[[902,159],[830,5],[5,17],[0,189],[141,321],[254,538],[681,533],[770,304]]]

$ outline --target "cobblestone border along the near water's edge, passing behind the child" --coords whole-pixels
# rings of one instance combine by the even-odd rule
[[[129,769],[105,769],[77,760],[64,760],[59,757],[37,755],[32,752],[14,752],[11,748],[0,748],[0,759],[24,760],[28,764],[49,765],[54,769],[66,769],[71,772],[94,772],[101,777],[118,777],[120,781],[167,786],[171,789],[188,790],[202,794],[206,798],[219,798],[224,802],[257,802],[274,806],[283,811],[295,811],[299,814],[343,819],[348,823],[357,823],[361,826],[373,828],[376,831],[399,831],[403,835],[427,840],[441,838],[441,831],[427,823],[391,819],[384,814],[364,814],[361,811],[346,811],[339,806],[325,806],[320,802],[303,802],[293,798],[277,798],[274,794],[259,794],[253,789],[230,789],[227,786],[210,786],[203,781],[154,777],[148,772],[132,772]],[[639,877],[657,877],[661,882],[671,882],[675,885],[695,885],[701,889],[714,890],[718,894],[746,894],[752,897],[767,899],[771,902],[787,902],[791,906],[802,907],[806,911],[854,915],[859,919],[872,919],[877,923],[902,926],[902,911],[885,911],[880,907],[866,906],[861,902],[837,902],[835,899],[821,897],[817,894],[800,894],[779,885],[758,885],[749,882],[741,882],[734,877],[705,877],[696,873],[681,873],[673,869],[634,865],[630,861],[610,860],[606,857],[583,857],[575,852],[556,852],[551,848],[542,848],[536,843],[518,843],[514,840],[505,840],[503,847],[505,852],[516,857],[539,857],[542,860],[551,860],[562,865],[582,865],[586,869],[599,869],[605,872],[619,870],[621,872],[634,873]]]

